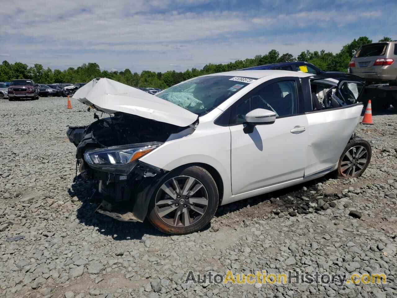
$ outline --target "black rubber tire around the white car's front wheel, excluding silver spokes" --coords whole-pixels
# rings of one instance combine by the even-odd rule
[[[190,191],[187,192],[186,196],[183,195],[184,186],[181,187],[182,184],[180,184],[181,181],[183,182],[184,178],[186,178],[187,180],[193,178],[194,180],[194,182],[192,182],[193,184],[191,184],[190,188],[188,188],[188,190]],[[188,185],[187,180],[185,186]],[[176,183],[178,184],[178,188],[180,190],[180,195],[178,195],[177,197],[177,192],[174,192],[175,200],[170,197],[170,195],[166,194],[166,192],[164,192],[164,190],[162,189],[163,184],[164,186],[170,185],[168,184],[170,181],[177,181]],[[199,186],[199,184],[201,184],[201,186]],[[204,228],[211,221],[216,210],[218,209],[219,193],[215,180],[214,178],[212,178],[211,174],[202,167],[189,166],[185,168],[175,169],[165,175],[161,179],[160,183],[158,183],[157,185],[158,187],[154,191],[149,203],[147,218],[150,223],[152,223],[153,226],[161,232],[176,235],[197,232]],[[175,184],[173,184],[173,186],[174,188],[176,188]],[[193,199],[193,197],[189,197],[189,195],[193,192],[193,190],[195,190],[197,186],[198,190],[196,190],[194,195],[200,197],[200,200],[204,199],[203,201],[205,201],[205,203],[207,204],[206,207],[204,207],[205,204],[198,203],[199,205],[195,205],[195,202],[189,201],[190,199]],[[204,197],[201,197],[199,194],[204,194]],[[198,197],[195,199],[198,199]],[[205,200],[205,198],[207,200]],[[180,204],[166,203],[167,205],[165,207],[160,208],[158,207],[162,206],[162,204],[159,205],[160,201],[173,201],[179,202]],[[179,206],[176,207],[177,205]],[[159,215],[160,210],[168,207],[175,207],[176,209],[173,209],[173,211],[166,213],[166,215],[161,217]],[[200,210],[200,212],[202,213],[198,213],[196,210]],[[187,212],[188,214],[187,221],[185,221],[185,212]],[[170,224],[170,222],[173,222],[175,224]]]

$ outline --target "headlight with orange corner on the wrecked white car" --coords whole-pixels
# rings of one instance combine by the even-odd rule
[[[127,175],[138,159],[160,145],[160,142],[148,142],[95,149],[84,153],[84,160],[96,170]]]

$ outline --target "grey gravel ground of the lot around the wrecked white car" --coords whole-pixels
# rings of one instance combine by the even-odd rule
[[[84,188],[72,187],[67,125],[89,124],[93,111],[71,103],[1,102],[1,297],[397,296],[396,112],[357,127],[373,150],[362,177],[327,176],[225,205],[206,230],[167,236],[94,214]],[[228,269],[385,273],[387,284],[183,283],[190,270]]]

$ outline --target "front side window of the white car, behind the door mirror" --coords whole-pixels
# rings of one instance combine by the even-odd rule
[[[245,95],[232,109],[230,124],[245,122],[245,115],[257,108],[271,110],[278,117],[297,114],[297,86],[295,81],[280,81],[259,86]]]

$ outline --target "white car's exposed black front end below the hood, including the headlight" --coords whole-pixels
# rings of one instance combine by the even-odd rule
[[[194,128],[123,112],[108,118],[99,118],[94,113],[94,118],[96,121],[88,126],[71,126],[67,130],[69,141],[77,147],[74,182],[93,186],[92,197],[100,203],[98,212],[119,220],[143,221],[151,197],[148,186],[165,171],[138,158],[171,135],[181,137],[192,133]],[[135,147],[142,146],[146,146],[143,151],[135,152]],[[139,154],[137,159],[133,159],[135,153]],[[129,160],[123,164],[125,158]],[[78,176],[77,172],[80,172]]]

